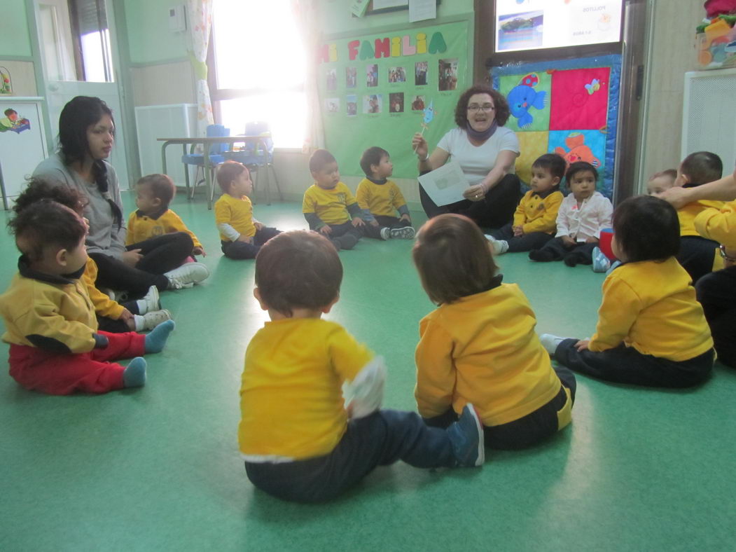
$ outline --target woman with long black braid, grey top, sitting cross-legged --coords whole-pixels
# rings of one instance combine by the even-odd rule
[[[59,117],[59,151],[43,160],[34,177],[67,185],[89,199],[86,245],[97,263],[96,285],[143,296],[150,286],[179,289],[209,275],[202,263],[180,266],[194,247],[186,233],[171,233],[125,247],[120,187],[106,159],[115,142],[113,112],[102,99],[77,96]],[[177,268],[178,267],[178,268]]]

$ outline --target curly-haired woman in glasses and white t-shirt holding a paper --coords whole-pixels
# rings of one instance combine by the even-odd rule
[[[457,128],[447,132],[429,153],[425,138],[417,132],[411,145],[419,158],[420,174],[439,169],[448,159],[460,163],[468,188],[464,200],[436,205],[420,185],[422,208],[428,217],[460,213],[484,228],[500,228],[511,222],[521,197],[514,174],[519,140],[503,127],[509,119],[509,104],[498,91],[475,85],[464,91],[455,108]]]

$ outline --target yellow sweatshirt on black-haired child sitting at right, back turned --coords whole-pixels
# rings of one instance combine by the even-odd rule
[[[624,343],[670,361],[686,361],[710,350],[710,328],[690,280],[674,257],[619,266],[603,283],[589,349],[604,351]]]

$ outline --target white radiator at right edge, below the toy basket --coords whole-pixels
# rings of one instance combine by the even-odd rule
[[[736,161],[736,69],[685,73],[680,158],[713,152],[723,160],[723,174]]]

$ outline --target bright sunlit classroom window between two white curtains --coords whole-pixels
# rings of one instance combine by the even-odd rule
[[[305,53],[289,0],[215,0],[213,10],[218,120],[241,134],[268,121],[274,144],[300,148],[305,137]]]

